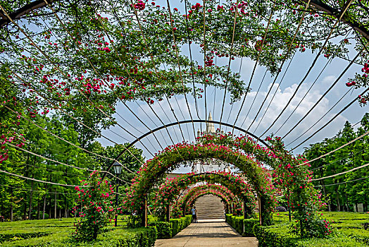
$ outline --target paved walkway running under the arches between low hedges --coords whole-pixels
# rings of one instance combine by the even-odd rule
[[[156,247],[195,247],[195,246],[242,246],[256,247],[258,241],[253,237],[242,237],[224,219],[199,219],[173,239],[158,239]]]

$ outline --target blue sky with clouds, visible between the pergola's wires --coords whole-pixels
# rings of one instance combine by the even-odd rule
[[[166,7],[166,1],[156,1],[157,4],[161,6]],[[177,1],[173,1],[171,3],[171,8],[179,8],[180,11],[183,11],[183,4]],[[188,46],[182,47],[182,53],[187,54],[188,56]],[[356,52],[352,51],[349,54],[350,59],[352,59],[356,55]],[[194,44],[192,44],[192,56],[194,60],[199,61],[199,64],[203,64],[204,55],[199,52],[199,48],[196,47]],[[270,73],[266,73],[265,80],[263,81],[263,84],[261,85],[260,92],[256,96],[256,90],[261,84],[261,80],[263,78],[263,75],[265,73],[265,68],[263,66],[257,66],[255,76],[251,82],[251,92],[246,97],[246,102],[244,103],[244,107],[242,108],[241,114],[239,116],[239,119],[236,123],[236,126],[239,126],[242,128],[249,128],[249,131],[251,133],[254,133],[256,135],[261,135],[265,131],[268,126],[270,126],[270,123],[272,123],[277,115],[280,113],[280,111],[283,109],[283,107],[287,104],[290,97],[292,97],[293,92],[296,90],[297,85],[300,83],[302,78],[304,78],[306,72],[308,71],[308,68],[311,66],[313,59],[315,59],[316,54],[312,54],[311,51],[306,50],[306,52],[301,53],[297,52],[294,56],[294,59],[291,63],[291,66],[289,67],[286,76],[284,77],[284,80],[281,78],[282,74],[287,68],[287,64],[289,61],[287,61],[283,68],[282,73],[280,74],[278,80],[276,81],[276,84],[273,87],[272,93],[269,95],[268,99],[266,100],[263,109],[261,110],[261,114],[259,114],[258,118],[256,119],[255,123],[249,128],[251,121],[254,119],[254,116],[256,115],[256,112],[258,111],[258,107],[260,107],[261,102],[266,96],[266,93],[268,92],[268,88],[271,86],[271,83],[273,83],[273,78],[270,76]],[[273,128],[270,128],[268,133],[262,136],[262,138],[265,138],[266,135],[269,135],[270,133],[275,133],[278,128],[282,125],[285,119],[289,116],[289,114],[294,111],[297,104],[299,104],[302,97],[304,97],[305,93],[307,92],[308,88],[311,86],[314,80],[317,79],[318,74],[323,69],[325,64],[327,63],[328,59],[325,58],[323,55],[321,55],[315,64],[313,70],[311,73],[309,73],[308,78],[306,78],[305,82],[301,85],[301,88],[299,88],[296,96],[294,97],[294,100],[292,100],[291,104],[289,104],[289,107],[284,112],[282,117],[275,123]],[[225,65],[228,63],[227,58],[222,58],[217,60],[218,65]],[[235,59],[231,63],[231,69],[234,72],[238,72],[241,64],[241,59]],[[242,59],[242,66],[241,66],[241,78],[246,82],[246,84],[250,80],[251,71],[254,68],[255,61],[251,61],[250,59],[244,58]],[[308,92],[308,95],[306,95],[306,98],[304,101],[299,105],[299,107],[296,109],[296,112],[292,115],[292,117],[289,119],[289,121],[282,126],[280,131],[277,132],[277,135],[283,136],[287,131],[289,131],[294,124],[301,119],[306,112],[308,112],[309,109],[315,104],[315,102],[323,95],[325,90],[334,83],[334,80],[337,79],[340,73],[346,68],[346,66],[349,64],[349,61],[345,61],[343,59],[335,58],[333,59],[330,64],[328,64],[327,68],[323,71],[321,76],[316,81],[315,85],[311,89],[310,92]],[[318,104],[317,107],[309,114],[304,121],[299,124],[298,127],[294,129],[289,135],[284,138],[284,142],[287,144],[294,140],[297,136],[299,136],[301,133],[304,133],[307,128],[312,126],[318,119],[320,119],[323,114],[325,114],[330,107],[332,107],[336,102],[344,95],[347,90],[350,88],[347,88],[345,83],[347,82],[348,78],[354,78],[355,73],[361,72],[361,66],[353,65],[347,71],[341,80],[337,83],[337,85],[334,86],[331,92],[329,92],[326,97]],[[201,85],[200,85],[201,86]],[[204,88],[201,86],[201,88]],[[275,98],[270,104],[270,107],[268,109],[268,112],[266,112],[264,118],[261,120],[261,116],[263,116],[263,113],[265,112],[266,107],[268,106],[271,98],[273,97],[273,93],[277,90],[277,93],[275,95]],[[337,114],[340,109],[342,109],[346,104],[351,102],[357,95],[361,93],[363,89],[359,90],[352,90],[349,92],[344,99],[337,104],[332,111],[325,116],[325,118],[322,119],[318,124],[316,124],[311,131],[308,131],[305,135],[303,135],[299,140],[296,140],[292,145],[287,146],[287,148],[292,148],[295,145],[299,144],[301,141],[305,140],[306,137],[311,135],[311,133],[315,132],[320,126],[323,126],[327,121],[329,121],[332,116]],[[223,95],[224,90],[216,89],[214,90],[213,87],[207,87],[206,89],[206,105],[207,105],[207,112],[205,110],[205,97],[203,94],[203,97],[199,100],[197,100],[198,107],[199,107],[199,116],[201,119],[205,119],[209,112],[213,114],[213,119],[215,121],[220,120],[220,112],[222,109],[222,103],[223,103]],[[250,110],[250,114],[246,117],[247,112],[249,112],[249,107],[251,106],[251,102],[256,97],[256,100],[254,102],[253,107]],[[187,95],[187,99],[189,100],[189,107],[190,111],[192,112],[192,117],[194,119],[198,119],[196,116],[196,107],[194,103],[194,99],[191,95]],[[187,110],[187,104],[184,100],[184,96],[177,96],[175,98],[171,98],[169,100],[171,107],[174,109],[174,113],[177,116],[177,119],[181,120],[190,120],[189,112]],[[214,104],[215,102],[215,104]],[[226,100],[225,100],[225,107],[224,107],[224,114],[222,121],[228,122],[233,124],[237,113],[239,111],[239,107],[241,105],[241,102],[234,103],[233,107],[230,104],[230,97],[227,94]],[[137,103],[142,107],[138,107]],[[158,104],[158,102],[155,102],[154,105],[152,105],[152,108],[156,112],[156,114],[159,116],[161,121],[158,119],[158,117],[154,114],[154,112],[151,111],[149,106],[146,104],[146,102],[129,102],[127,103],[128,107],[132,109],[137,116],[140,117],[144,123],[146,123],[149,128],[156,128],[157,126],[162,126],[161,121],[163,121],[165,124],[173,123],[175,122],[175,117],[173,116],[173,113],[170,111],[169,103],[164,100]],[[231,111],[232,108],[232,111]],[[140,123],[135,116],[133,116],[128,109],[123,106],[123,104],[118,104],[118,113],[120,116],[123,116],[126,121],[129,121],[132,126],[135,126],[135,128],[132,128],[132,126],[129,126],[123,119],[120,119],[120,116],[116,116],[116,119],[118,122],[125,126],[127,130],[131,131],[134,135],[139,136],[142,135],[142,133],[146,133],[149,131],[148,128],[146,128],[142,123]],[[350,121],[351,123],[357,123],[361,120],[363,117],[363,114],[367,111],[367,107],[360,107],[358,102],[353,104],[349,109],[347,109],[345,112],[343,112],[337,119],[335,119],[332,123],[330,123],[327,128],[324,128],[323,131],[320,131],[317,135],[315,135],[311,140],[308,140],[308,142],[304,143],[304,145],[301,145],[301,147],[294,150],[295,154],[301,153],[304,151],[304,147],[307,147],[311,143],[316,143],[324,138],[330,138],[333,135],[337,134],[337,132],[343,128],[345,121]],[[146,114],[149,116],[146,116]],[[229,119],[228,119],[229,116]],[[244,125],[242,125],[242,122],[244,122]],[[256,129],[256,126],[260,122],[260,125]],[[184,134],[184,140],[193,141],[194,140],[194,131],[192,129],[192,124],[188,123],[187,125],[182,125],[182,132]],[[200,126],[199,123],[195,125],[195,132],[202,128],[205,129],[205,124]],[[215,128],[218,128],[217,125],[215,125]],[[224,128],[225,131],[230,131],[230,128]],[[118,135],[123,136],[127,140],[134,140],[130,135],[127,135],[127,133],[124,133],[124,131],[119,127],[113,127],[110,130],[103,131],[103,134],[108,136],[109,138],[112,138],[118,143],[124,143],[127,140],[123,139],[122,137],[116,135],[115,133],[112,133],[114,131],[115,133],[118,133]],[[172,140],[168,137],[167,131],[164,129],[163,131],[160,131],[156,133],[156,138],[159,140],[161,145],[165,147],[166,145],[171,145],[173,143],[178,143],[183,140],[180,128],[178,126],[170,127],[168,128],[168,131],[170,135],[172,136]],[[238,134],[238,131],[235,133]],[[100,140],[103,145],[111,145],[111,143],[108,143],[106,140],[101,139]],[[144,138],[142,140],[142,143],[150,150],[150,152],[154,153],[160,150],[158,143],[156,142],[156,139],[154,136],[149,135],[149,137]],[[144,148],[141,143],[137,143],[137,147]],[[144,150],[144,155],[147,158],[152,157],[152,155],[147,151]]]

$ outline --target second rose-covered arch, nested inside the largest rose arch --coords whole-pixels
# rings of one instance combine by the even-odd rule
[[[166,179],[158,188],[154,205],[159,209],[161,207],[166,207],[168,211],[168,205],[170,203],[177,203],[182,193],[184,193],[189,186],[199,182],[220,183],[222,186],[227,187],[232,194],[242,200],[245,209],[244,218],[251,217],[252,210],[256,206],[254,192],[251,191],[249,184],[240,176],[225,171],[204,172],[199,174],[189,173],[177,176],[173,179]]]

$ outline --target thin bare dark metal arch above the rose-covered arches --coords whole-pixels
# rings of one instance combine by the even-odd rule
[[[237,129],[237,131],[242,131],[242,132],[246,133],[247,135],[252,136],[253,138],[257,139],[259,142],[263,143],[263,145],[270,148],[268,143],[265,143],[265,141],[263,139],[259,138],[258,136],[254,135],[253,133],[250,133],[249,131],[246,131],[246,129],[244,129],[244,128],[240,128],[238,126],[233,126],[230,123],[224,123],[222,121],[209,121],[209,120],[202,120],[202,119],[193,119],[193,120],[175,121],[173,123],[168,123],[168,124],[165,124],[163,126],[159,126],[158,128],[154,128],[153,130],[144,133],[143,135],[139,136],[139,138],[132,141],[132,143],[130,143],[130,145],[127,145],[126,149],[123,150],[122,152],[120,152],[120,154],[117,157],[115,157],[115,160],[118,160],[125,153],[126,150],[128,150],[130,147],[135,145],[135,143],[142,140],[142,138],[145,138],[147,135],[150,135],[150,134],[152,134],[156,131],[160,131],[163,128],[168,128],[170,126],[180,125],[180,124],[183,124],[183,123],[217,123],[217,124],[220,124],[220,125],[223,125],[223,126],[232,127],[232,128]],[[111,162],[110,166],[108,167],[108,169],[106,171],[109,171],[111,169],[111,167],[113,167],[113,164],[114,164],[114,162]],[[106,174],[104,173],[102,179],[104,179],[105,176],[106,176]]]

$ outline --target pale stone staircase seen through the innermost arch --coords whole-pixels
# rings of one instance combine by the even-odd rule
[[[204,195],[196,200],[197,219],[224,219],[224,205],[215,195]]]

